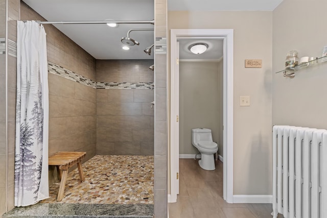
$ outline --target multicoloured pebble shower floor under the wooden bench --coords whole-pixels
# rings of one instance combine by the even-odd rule
[[[153,156],[96,155],[68,173],[64,198],[57,202],[60,183],[50,186],[50,198],[40,203],[153,204]]]

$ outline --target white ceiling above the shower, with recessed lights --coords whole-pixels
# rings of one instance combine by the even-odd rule
[[[23,0],[48,21],[153,20],[153,0]],[[153,29],[151,24],[54,25],[96,59],[153,59],[144,53],[154,43],[153,31],[133,31],[130,38],[139,45],[122,49],[122,37],[130,29]]]

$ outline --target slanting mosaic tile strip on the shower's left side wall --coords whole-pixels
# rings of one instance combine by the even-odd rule
[[[90,86],[92,88],[97,88],[96,82],[94,82],[86,77],[83,77],[82,75],[76,74],[75,72],[73,72],[69,69],[65,69],[57,64],[54,64],[50,61],[48,61],[48,71],[51,74],[59,75],[68,80],[72,80],[72,81]]]

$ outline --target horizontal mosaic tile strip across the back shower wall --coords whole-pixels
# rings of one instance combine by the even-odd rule
[[[99,89],[153,89],[154,83],[129,83],[129,82],[97,82]]]

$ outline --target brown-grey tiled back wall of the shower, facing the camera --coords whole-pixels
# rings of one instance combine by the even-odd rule
[[[97,154],[153,155],[153,60],[97,60],[97,81],[131,82],[138,87],[97,89]],[[150,86],[151,87],[151,86]]]

